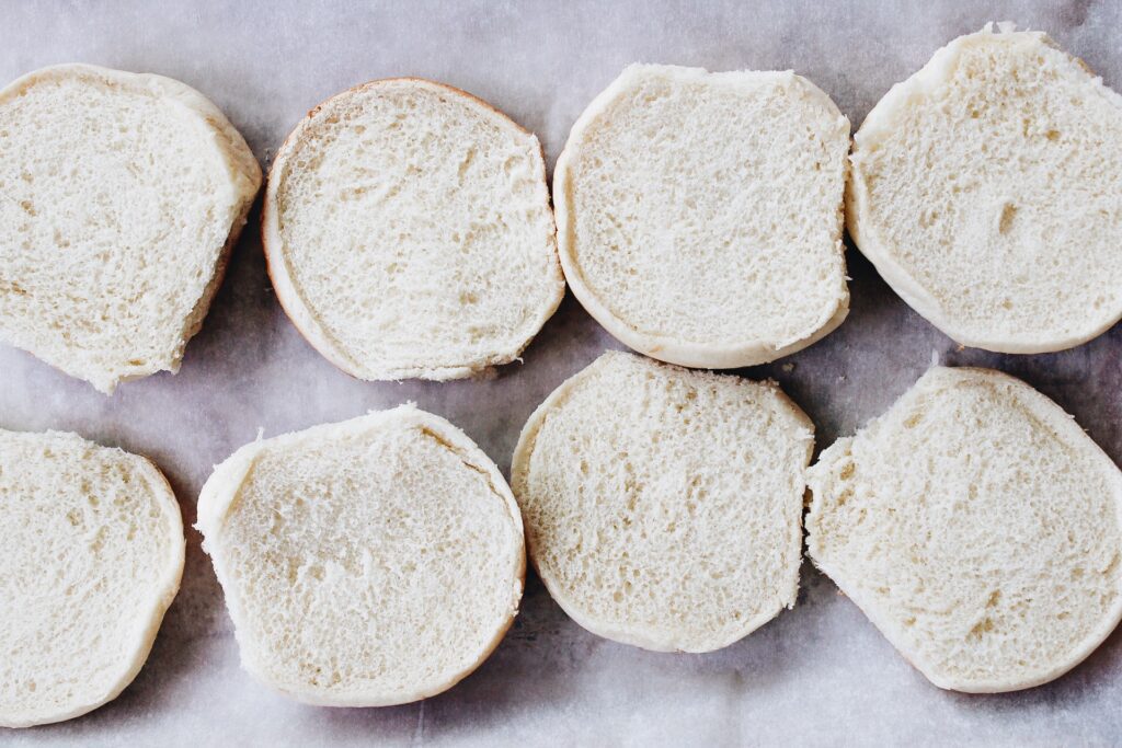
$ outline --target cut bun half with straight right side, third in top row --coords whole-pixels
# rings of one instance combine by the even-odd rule
[[[849,121],[791,72],[632,65],[558,158],[565,279],[608,332],[671,363],[806,348],[848,312],[848,150]]]

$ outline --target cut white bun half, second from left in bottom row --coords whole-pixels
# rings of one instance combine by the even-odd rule
[[[463,432],[411,406],[241,447],[203,487],[197,526],[245,667],[309,703],[440,693],[522,597],[511,489]]]

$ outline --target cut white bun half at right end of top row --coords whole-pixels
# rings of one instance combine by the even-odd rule
[[[1122,98],[1041,33],[959,37],[854,141],[849,232],[965,345],[1070,348],[1122,317]]]

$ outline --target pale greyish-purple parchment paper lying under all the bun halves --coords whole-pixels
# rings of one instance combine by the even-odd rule
[[[982,7],[985,4],[985,7]],[[268,164],[304,112],[356,83],[421,75],[466,89],[534,130],[550,165],[569,127],[627,63],[793,68],[854,127],[898,80],[988,20],[1048,30],[1122,89],[1122,3],[993,2],[0,2],[0,80],[90,62],[182,80],[213,99]],[[250,221],[256,222],[255,210]],[[818,444],[880,414],[932,362],[995,367],[1074,414],[1122,461],[1122,325],[1075,350],[1011,357],[938,333],[849,251],[853,312],[809,350],[747,369],[774,377]],[[490,381],[369,384],[316,354],[269,288],[257,231],[238,246],[177,376],[107,398],[0,348],[0,426],[76,431],[153,456],[194,521],[211,465],[257,434],[404,400],[461,426],[506,471],[518,430],[565,377],[619,345],[572,299]],[[13,746],[209,745],[1110,745],[1122,742],[1122,635],[1028,692],[929,685],[834,584],[804,565],[794,610],[709,655],[665,655],[585,632],[531,579],[498,650],[452,691],[379,710],[305,707],[239,668],[199,535],[144,671],[70,722],[0,731]]]

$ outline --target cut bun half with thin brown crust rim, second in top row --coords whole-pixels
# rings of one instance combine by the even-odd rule
[[[486,373],[564,295],[537,138],[430,81],[313,109],[273,163],[261,231],[288,316],[359,379]]]

